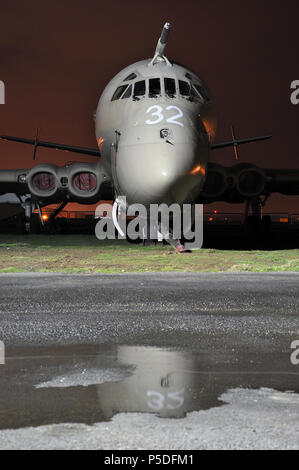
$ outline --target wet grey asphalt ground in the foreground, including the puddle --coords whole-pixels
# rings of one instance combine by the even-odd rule
[[[0,448],[299,449],[298,286],[1,274]]]

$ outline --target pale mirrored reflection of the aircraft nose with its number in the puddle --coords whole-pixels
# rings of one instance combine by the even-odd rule
[[[188,411],[223,403],[213,396],[210,374],[197,372],[194,359],[184,352],[118,346],[117,360],[133,364],[135,370],[121,382],[98,386],[106,417],[116,412],[155,412],[161,417],[182,418]]]

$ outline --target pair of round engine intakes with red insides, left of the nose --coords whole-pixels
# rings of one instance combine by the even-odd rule
[[[30,193],[41,201],[70,200],[81,203],[99,200],[101,186],[107,176],[100,164],[76,163],[58,167],[40,164],[26,177]]]

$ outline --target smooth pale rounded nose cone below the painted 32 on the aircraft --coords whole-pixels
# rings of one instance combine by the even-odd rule
[[[115,159],[119,195],[126,196],[129,204],[194,201],[205,177],[206,139],[186,129],[171,130],[169,139],[161,137],[157,127],[144,131],[133,129],[119,142]]]

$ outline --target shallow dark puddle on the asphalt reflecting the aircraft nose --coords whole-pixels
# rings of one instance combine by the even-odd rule
[[[128,412],[184,418],[222,406],[229,389],[299,393],[292,367],[289,354],[280,351],[269,356],[116,345],[16,348],[1,369],[0,429],[93,424]]]

